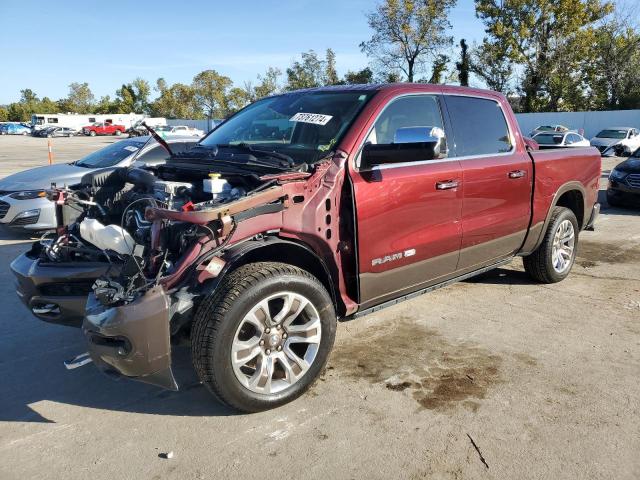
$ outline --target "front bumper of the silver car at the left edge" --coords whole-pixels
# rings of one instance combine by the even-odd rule
[[[24,230],[51,230],[56,228],[55,204],[46,198],[16,200],[0,197],[0,224]]]

